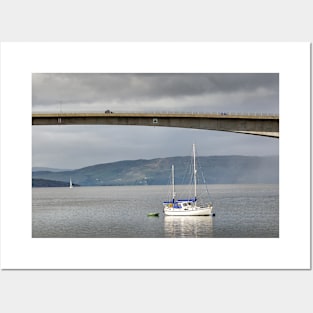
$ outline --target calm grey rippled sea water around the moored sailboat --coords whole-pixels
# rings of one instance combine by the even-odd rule
[[[164,216],[167,186],[33,188],[34,238],[279,237],[278,185],[209,185],[216,215]],[[159,212],[159,217],[148,217]]]

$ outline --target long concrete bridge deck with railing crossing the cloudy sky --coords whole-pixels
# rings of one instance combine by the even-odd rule
[[[33,113],[32,125],[141,125],[279,138],[279,116],[234,113]]]

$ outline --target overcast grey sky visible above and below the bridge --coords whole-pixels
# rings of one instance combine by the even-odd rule
[[[35,112],[279,113],[279,74],[34,73]],[[276,138],[170,127],[32,126],[33,167],[190,155],[278,155]]]

